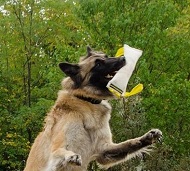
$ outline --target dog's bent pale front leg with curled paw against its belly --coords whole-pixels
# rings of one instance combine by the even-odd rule
[[[65,167],[67,164],[81,166],[81,156],[65,148],[58,148],[52,152],[45,171],[56,171],[59,168]]]

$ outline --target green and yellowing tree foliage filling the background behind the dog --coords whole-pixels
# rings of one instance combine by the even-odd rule
[[[189,0],[0,1],[0,170],[23,170],[61,88],[58,63],[78,61],[87,44],[114,56],[124,43],[144,51],[128,89],[145,88],[112,102],[113,139],[158,127],[164,142],[109,171],[189,170],[189,16]]]

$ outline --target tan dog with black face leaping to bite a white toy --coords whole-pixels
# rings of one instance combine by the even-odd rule
[[[124,57],[108,57],[87,47],[87,55],[78,64],[59,64],[67,77],[24,171],[86,171],[93,160],[107,169],[142,156],[161,140],[162,132],[152,129],[119,144],[112,141],[108,100],[114,96],[106,85],[125,63]]]

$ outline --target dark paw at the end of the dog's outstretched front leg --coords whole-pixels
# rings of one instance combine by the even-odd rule
[[[151,145],[157,141],[162,142],[162,138],[162,132],[159,129],[151,129],[142,136],[140,141],[145,145]]]

